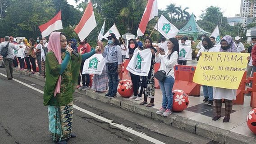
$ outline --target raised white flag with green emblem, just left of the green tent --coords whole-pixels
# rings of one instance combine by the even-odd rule
[[[155,30],[157,30],[157,23]],[[158,20],[158,31],[165,36],[166,39],[175,37],[178,34],[178,28],[171,24],[163,15],[161,15]]]

